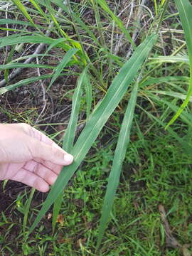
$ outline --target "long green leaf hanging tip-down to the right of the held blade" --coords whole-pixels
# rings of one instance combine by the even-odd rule
[[[119,138],[117,142],[117,147],[114,151],[114,159],[112,163],[112,170],[110,172],[107,191],[105,193],[104,203],[102,206],[102,216],[100,219],[99,232],[97,236],[97,249],[100,247],[102,242],[105,229],[107,228],[107,223],[110,219],[110,212],[112,210],[114,196],[117,191],[117,186],[119,185],[119,177],[122,171],[122,163],[126,154],[126,149],[129,144],[130,132],[132,128],[132,121],[134,117],[134,108],[137,100],[138,82],[134,85],[132,94],[127,105],[127,110],[124,114],[124,119],[122,122],[122,127],[119,133]]]

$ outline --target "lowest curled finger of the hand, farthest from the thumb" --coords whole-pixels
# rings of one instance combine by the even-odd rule
[[[43,178],[25,169],[20,169],[11,179],[36,188],[41,192],[47,192],[49,190],[49,185]]]

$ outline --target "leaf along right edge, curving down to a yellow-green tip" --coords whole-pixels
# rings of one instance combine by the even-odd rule
[[[188,92],[186,95],[186,100],[183,101],[183,104],[178,109],[174,117],[169,121],[169,123],[166,125],[166,129],[174,123],[174,121],[177,119],[177,117],[181,114],[183,109],[188,105],[188,102],[190,100],[190,97],[192,95],[192,6],[188,0],[175,0],[176,7],[179,12],[179,16],[181,18],[181,23],[183,26],[183,30],[186,37],[186,44],[188,48],[188,58],[190,63],[190,80],[189,80],[189,86],[188,86]]]

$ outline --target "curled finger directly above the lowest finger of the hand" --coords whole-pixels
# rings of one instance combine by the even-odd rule
[[[28,163],[23,166],[23,169],[33,172],[33,174],[43,178],[43,180],[50,185],[53,185],[58,178],[57,174],[36,161],[28,161]]]

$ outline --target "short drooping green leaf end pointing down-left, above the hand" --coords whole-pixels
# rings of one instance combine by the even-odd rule
[[[53,85],[53,82],[55,82],[55,80],[58,78],[58,76],[60,75],[60,73],[63,71],[63,68],[65,68],[65,66],[69,63],[69,61],[71,60],[71,58],[73,57],[73,55],[75,53],[77,53],[78,49],[75,48],[71,48],[68,53],[65,54],[65,56],[63,57],[63,60],[61,60],[60,64],[55,68],[55,73],[53,75],[53,78],[50,81],[50,85],[48,85],[48,89],[50,89],[51,85]]]

